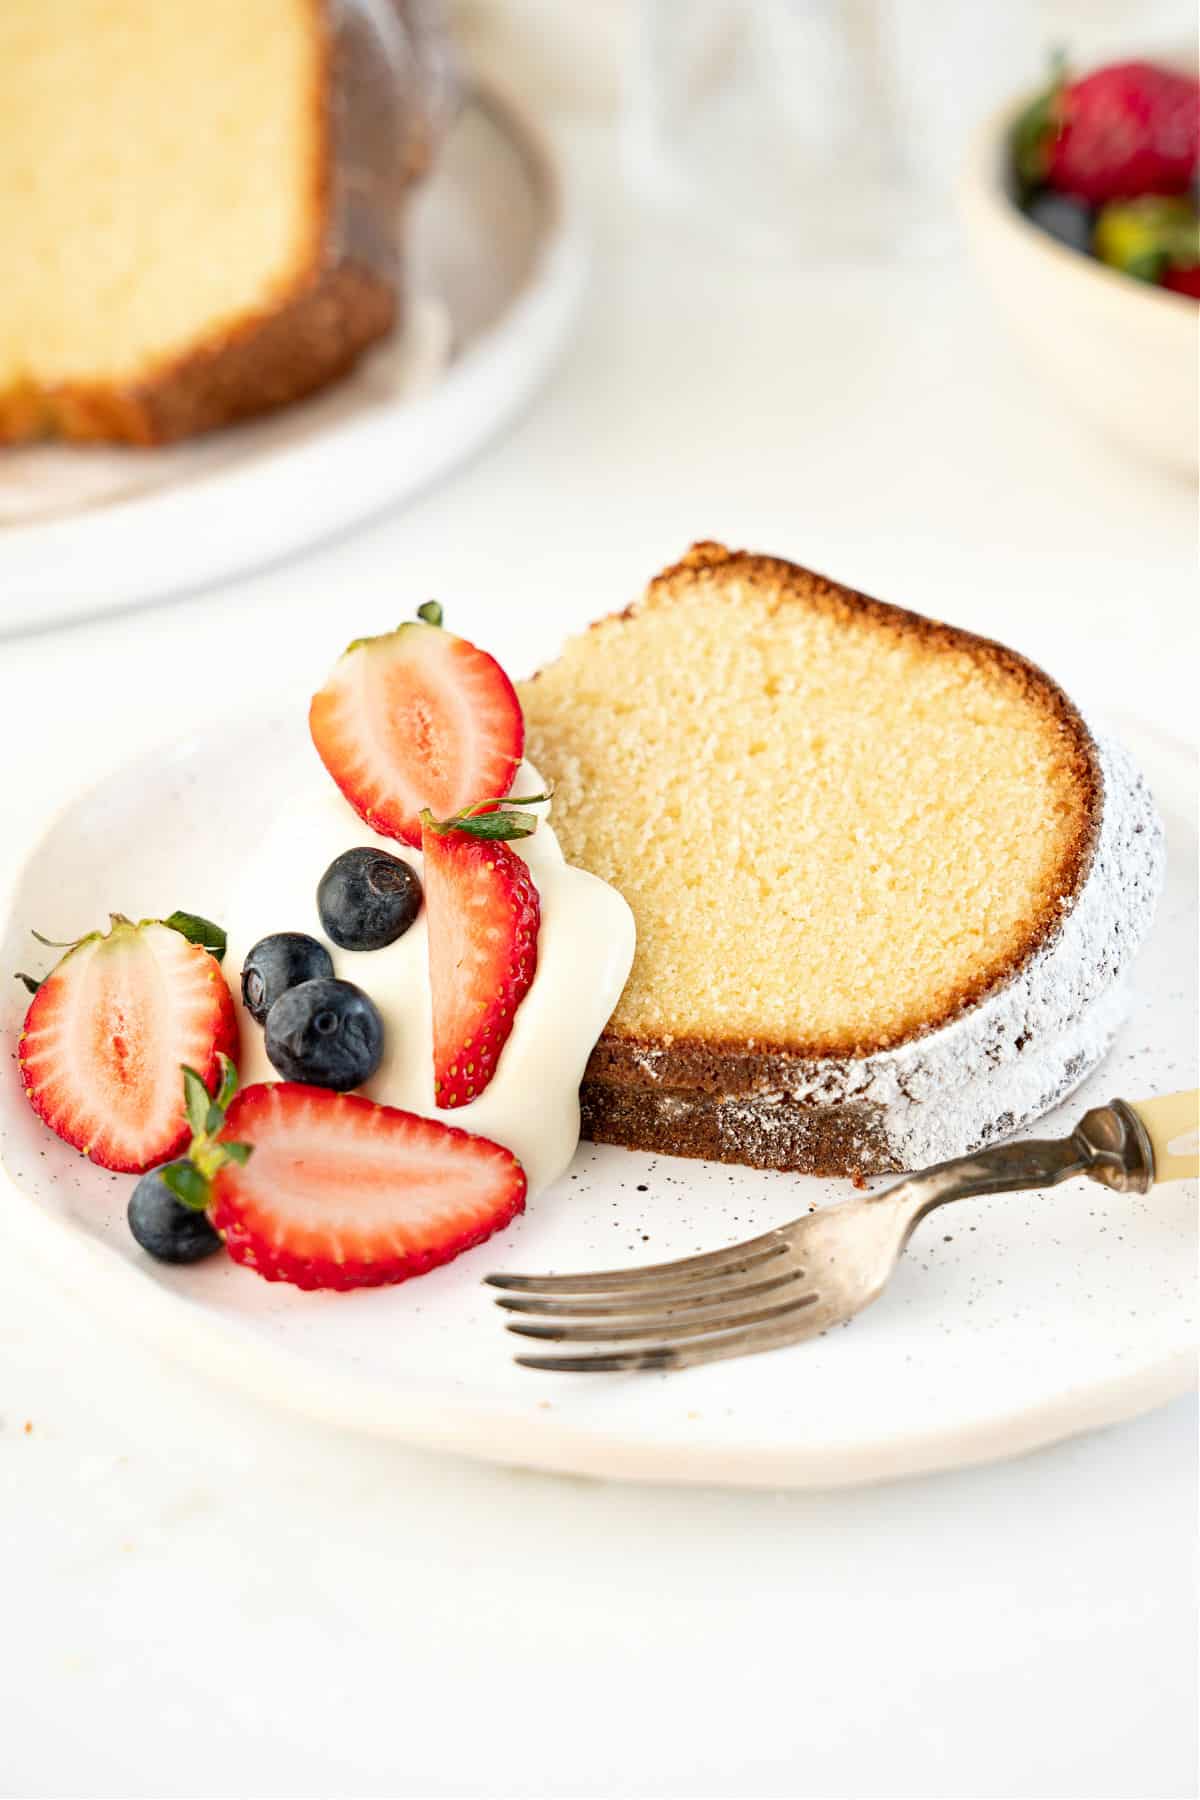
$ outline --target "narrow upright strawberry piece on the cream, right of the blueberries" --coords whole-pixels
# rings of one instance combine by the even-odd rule
[[[434,1096],[464,1107],[497,1073],[538,968],[542,904],[529,866],[495,839],[423,819],[434,1003]]]

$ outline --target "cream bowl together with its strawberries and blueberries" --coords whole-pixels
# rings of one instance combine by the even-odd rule
[[[1200,437],[1198,110],[1186,65],[1056,72],[979,126],[957,184],[966,247],[1038,389],[1186,477]],[[1029,405],[1033,430],[1033,391]]]

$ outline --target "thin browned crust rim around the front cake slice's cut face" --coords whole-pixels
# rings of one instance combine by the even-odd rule
[[[613,617],[635,619],[642,608],[671,605],[676,598],[684,598],[691,592],[696,580],[703,580],[709,571],[720,571],[725,576],[738,576],[754,583],[759,592],[774,596],[774,607],[804,605],[819,607],[833,616],[856,616],[858,619],[865,616],[883,630],[914,634],[925,644],[934,648],[966,652],[981,664],[990,664],[991,668],[1002,671],[1007,680],[1020,686],[1031,706],[1040,707],[1065,733],[1070,743],[1070,765],[1081,797],[1081,823],[1067,846],[1058,878],[1054,882],[1054,891],[1047,896],[1047,904],[1034,916],[1031,916],[1020,949],[1002,965],[991,968],[986,977],[963,983],[939,1010],[930,1012],[930,1015],[921,1021],[918,1030],[887,1039],[864,1039],[853,1046],[829,1046],[801,1037],[788,1042],[770,1044],[748,1044],[739,1039],[723,1037],[684,1037],[678,1033],[669,1039],[653,1039],[628,1035],[613,1026],[608,1026],[588,1062],[583,1085],[585,1118],[588,1118],[597,1129],[597,1136],[603,1136],[608,1141],[648,1145],[662,1150],[669,1148],[664,1139],[662,1118],[658,1118],[649,1136],[635,1138],[631,1134],[631,1094],[626,1096],[626,1105],[619,1107],[617,1102],[621,1100],[621,1089],[646,1091],[651,1087],[660,1094],[678,1091],[680,1094],[689,1093],[694,1096],[712,1098],[752,1096],[772,1089],[786,1089],[792,1085],[797,1073],[801,1073],[801,1067],[806,1076],[811,1076],[811,1064],[824,1058],[842,1064],[849,1058],[894,1049],[901,1042],[909,1042],[910,1039],[923,1037],[939,1026],[945,1026],[950,1019],[984,999],[984,995],[1004,986],[1060,929],[1063,916],[1070,911],[1070,905],[1079,895],[1096,850],[1103,806],[1103,783],[1097,751],[1079,713],[1061,688],[1058,688],[1049,675],[1036,668],[1036,664],[1029,662],[1015,650],[993,643],[991,639],[975,637],[957,626],[927,619],[921,614],[887,605],[885,601],[873,599],[867,594],[858,594],[853,589],[829,581],[828,578],[813,574],[795,563],[788,563],[774,556],[761,556],[750,551],[729,551],[723,545],[711,542],[694,544],[678,563],[666,569],[651,581],[644,599],[635,601]],[[651,1058],[653,1080],[648,1078],[648,1066]],[[633,1111],[637,1111],[635,1105]],[[622,1120],[624,1123],[621,1123]],[[694,1138],[696,1134],[707,1132],[707,1129],[705,1121],[696,1116],[689,1121],[687,1136]],[[626,1134],[619,1136],[621,1130]],[[833,1166],[837,1157],[833,1154],[833,1147],[828,1148],[831,1159],[826,1161],[822,1156],[822,1163],[826,1163],[826,1166]],[[680,1148],[676,1154],[714,1156],[716,1152],[712,1148],[702,1150],[696,1147],[691,1150]]]

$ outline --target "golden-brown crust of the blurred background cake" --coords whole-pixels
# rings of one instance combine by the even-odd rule
[[[349,371],[394,328],[396,284],[349,254],[331,256],[335,43],[324,0],[309,0],[309,5],[320,41],[309,99],[318,144],[311,230],[277,301],[214,329],[137,382],[25,383],[0,392],[0,443],[34,437],[137,446],[176,443],[315,392]],[[410,157],[408,173],[419,173],[417,157]],[[399,193],[396,203],[401,203]]]

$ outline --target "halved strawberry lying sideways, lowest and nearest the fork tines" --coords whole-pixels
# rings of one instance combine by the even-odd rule
[[[250,1156],[218,1168],[210,1219],[230,1256],[268,1282],[405,1282],[525,1206],[509,1150],[362,1094],[261,1082],[230,1103],[225,1139]]]

